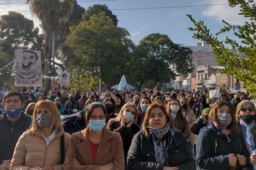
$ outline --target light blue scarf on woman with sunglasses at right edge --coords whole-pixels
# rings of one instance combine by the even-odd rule
[[[252,153],[255,149],[255,143],[254,143],[254,136],[252,133],[252,128],[255,125],[255,122],[253,121],[250,124],[246,124],[245,122],[240,119],[240,124],[243,132],[243,138],[245,139],[247,149],[249,150],[249,153]]]

